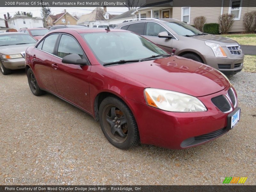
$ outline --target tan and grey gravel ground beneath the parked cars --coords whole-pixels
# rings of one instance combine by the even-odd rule
[[[83,111],[51,94],[34,96],[23,70],[0,75],[0,185],[13,184],[6,177],[71,185],[221,185],[227,176],[248,177],[245,184],[255,185],[256,74],[230,79],[242,109],[232,131],[184,150],[121,150]]]

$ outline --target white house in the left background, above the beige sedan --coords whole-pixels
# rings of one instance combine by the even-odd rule
[[[16,15],[7,20],[9,28],[19,30],[20,28],[44,27],[43,19],[32,18],[27,15]]]

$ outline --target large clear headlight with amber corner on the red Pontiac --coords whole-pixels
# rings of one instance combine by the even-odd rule
[[[146,88],[144,93],[149,106],[165,111],[207,111],[206,107],[199,99],[185,93],[155,88]]]

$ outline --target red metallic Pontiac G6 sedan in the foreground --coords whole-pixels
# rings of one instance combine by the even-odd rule
[[[92,115],[122,149],[139,140],[188,148],[239,120],[236,91],[225,75],[125,30],[51,31],[27,49],[26,72],[34,95],[50,92]]]

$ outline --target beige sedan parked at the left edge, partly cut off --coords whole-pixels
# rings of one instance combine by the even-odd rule
[[[5,32],[0,34],[0,69],[3,75],[12,73],[12,69],[25,68],[25,51],[34,46],[36,39],[28,34]]]

